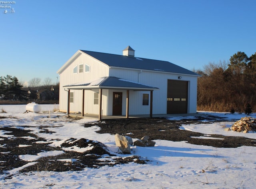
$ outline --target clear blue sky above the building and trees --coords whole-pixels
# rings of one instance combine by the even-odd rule
[[[5,1],[5,0],[4,0]],[[0,4],[4,5],[4,4]],[[0,76],[50,77],[79,49],[186,69],[256,52],[255,0],[15,0],[0,8]],[[8,12],[11,8],[6,8]]]

